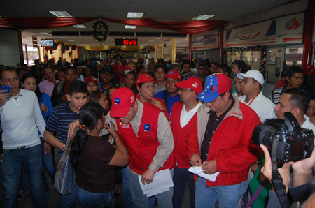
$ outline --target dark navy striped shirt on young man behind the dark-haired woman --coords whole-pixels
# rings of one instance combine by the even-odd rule
[[[71,110],[69,104],[69,102],[66,102],[54,107],[45,128],[50,133],[56,132],[56,138],[64,144],[68,138],[68,125],[78,119],[78,114]],[[63,153],[62,149],[58,149],[58,161]]]

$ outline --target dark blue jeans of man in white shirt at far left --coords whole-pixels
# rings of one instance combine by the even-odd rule
[[[47,207],[47,198],[41,165],[41,145],[25,149],[3,149],[1,165],[1,183],[3,185],[2,207],[16,207],[22,165],[27,172],[31,184],[31,205],[33,207]]]

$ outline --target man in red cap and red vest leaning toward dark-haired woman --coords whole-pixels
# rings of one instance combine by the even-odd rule
[[[132,201],[136,207],[148,207],[148,200],[153,198],[142,193],[139,175],[143,184],[150,184],[155,172],[174,172],[174,139],[169,122],[158,107],[141,103],[127,87],[113,91],[110,116],[130,155]],[[172,197],[173,188],[155,195],[159,207],[172,207]]]

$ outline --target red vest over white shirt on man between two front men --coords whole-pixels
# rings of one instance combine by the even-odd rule
[[[195,117],[197,117],[197,113],[193,116],[192,119],[184,126],[184,128],[181,128],[181,110],[183,109],[183,103],[176,102],[173,105],[172,108],[172,114],[171,114],[171,128],[172,133],[174,137],[174,154],[176,163],[179,166],[179,168],[190,168],[190,163],[187,158],[187,142],[186,142],[186,135],[188,131],[190,130],[193,120]]]

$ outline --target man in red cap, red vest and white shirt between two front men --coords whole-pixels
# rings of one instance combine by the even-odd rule
[[[179,87],[179,101],[174,103],[171,114],[171,128],[174,135],[174,195],[173,207],[181,207],[188,181],[190,191],[190,207],[195,207],[195,181],[187,158],[186,135],[193,124],[193,118],[202,103],[197,95],[202,91],[202,83],[197,77],[188,77],[185,81],[175,84]]]

